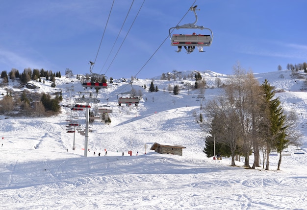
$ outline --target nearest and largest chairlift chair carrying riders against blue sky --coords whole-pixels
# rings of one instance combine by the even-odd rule
[[[198,17],[196,14],[196,6],[191,6],[190,10],[194,12],[195,14],[195,22],[194,23],[187,23],[184,25],[177,25],[176,27],[171,27],[169,29],[169,36],[171,39],[171,46],[177,46],[177,52],[181,51],[181,47],[183,46],[187,53],[191,53],[194,51],[195,47],[198,47],[199,52],[204,52],[203,47],[209,47],[212,44],[213,40],[213,32],[210,28],[206,28],[204,26],[196,25],[198,21]],[[171,35],[171,30],[173,29],[193,29],[193,30],[208,30],[210,32],[210,35],[202,35],[202,34],[196,34],[193,32],[193,34],[186,35],[186,34],[173,34]]]

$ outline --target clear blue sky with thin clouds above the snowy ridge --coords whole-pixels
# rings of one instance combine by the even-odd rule
[[[152,78],[173,70],[231,74],[236,62],[257,73],[307,62],[306,0],[197,0],[196,24],[210,28],[214,39],[206,52],[191,54],[175,52],[170,39],[157,48],[195,0],[145,0],[127,35],[143,1],[134,0],[112,51],[132,0],[115,0],[106,28],[113,0],[1,1],[0,71],[43,68],[63,75],[69,68],[85,74],[96,56],[93,72],[113,78]],[[190,11],[179,25],[194,21]],[[174,31],[193,32],[208,34]]]

